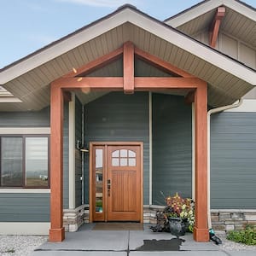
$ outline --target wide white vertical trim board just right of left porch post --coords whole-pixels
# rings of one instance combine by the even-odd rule
[[[75,205],[76,205],[76,198],[75,198],[75,131],[76,131],[76,119],[75,119],[75,105],[76,105],[76,98],[75,98],[75,94],[72,92],[71,95],[71,101],[69,102],[69,109],[68,109],[68,158],[69,158],[69,162],[68,162],[68,167],[69,167],[69,179],[68,179],[68,205],[70,209],[74,209]]]

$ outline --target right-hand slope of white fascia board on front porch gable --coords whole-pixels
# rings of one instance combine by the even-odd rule
[[[184,49],[192,55],[198,56],[204,61],[223,69],[224,71],[235,75],[237,78],[246,81],[249,84],[256,85],[256,73],[250,68],[244,67],[240,63],[231,60],[217,51],[210,49],[207,45],[200,44],[183,35],[180,32],[170,29],[168,26],[163,26],[160,22],[148,19],[143,15],[135,12],[130,12],[129,21],[136,26],[142,27],[144,30],[163,38],[171,44]]]

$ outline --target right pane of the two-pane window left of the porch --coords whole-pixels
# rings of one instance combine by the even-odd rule
[[[26,137],[26,186],[48,187],[48,137]]]

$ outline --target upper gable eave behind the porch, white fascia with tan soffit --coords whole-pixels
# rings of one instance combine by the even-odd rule
[[[238,0],[206,0],[166,19],[165,22],[186,34],[195,35],[209,29],[219,6],[226,8],[221,24],[222,31],[256,47],[256,9]]]

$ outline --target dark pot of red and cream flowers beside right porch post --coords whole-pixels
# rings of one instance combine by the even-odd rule
[[[195,224],[194,202],[176,193],[166,197],[165,216],[168,219],[170,232],[174,236],[184,236],[189,230],[193,232]]]

